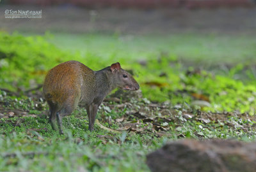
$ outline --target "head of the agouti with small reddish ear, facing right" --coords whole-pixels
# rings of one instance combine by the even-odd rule
[[[131,74],[121,68],[119,62],[112,64],[111,72],[113,73],[113,79],[115,80],[116,87],[123,90],[138,90],[140,89],[140,85]]]

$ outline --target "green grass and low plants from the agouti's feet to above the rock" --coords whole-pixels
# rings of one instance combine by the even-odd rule
[[[0,109],[9,110],[15,107],[16,110],[28,111],[38,107],[35,104],[41,104],[42,109],[38,111],[37,117],[0,118],[0,171],[149,171],[145,164],[146,155],[168,140],[232,138],[254,141],[256,136],[256,122],[252,118],[222,114],[219,119],[205,123],[196,112],[190,113],[195,117],[184,118],[184,114],[188,113],[184,109],[164,116],[172,118],[172,122],[168,122],[170,129],[161,138],[156,136],[157,131],[150,131],[150,122],[143,122],[142,119],[132,116],[125,118],[131,118],[131,122],[140,124],[139,129],[148,126],[144,132],[124,131],[115,134],[95,125],[95,131],[91,133],[88,131],[88,118],[84,108],[77,108],[72,115],[63,118],[65,134],[60,136],[58,131],[51,129],[47,117],[40,115],[47,110],[44,102],[28,97],[2,97]],[[4,102],[8,102],[8,105],[3,105]],[[144,101],[134,100],[129,103],[132,106],[126,108],[127,111],[134,110],[134,106],[147,106]],[[109,104],[113,103],[105,102],[104,107]],[[110,128],[121,125],[120,122],[115,122],[120,118],[120,109],[116,106],[110,112],[105,109],[99,110],[100,123],[109,127],[104,121],[111,116],[113,124]],[[157,110],[148,110],[145,113],[154,113],[159,117]]]

